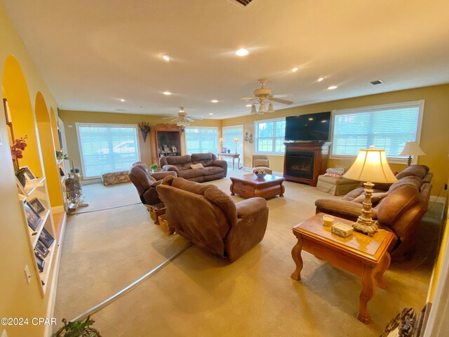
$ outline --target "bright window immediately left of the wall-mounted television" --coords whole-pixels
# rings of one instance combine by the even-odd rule
[[[255,121],[255,152],[283,153],[286,119],[266,119]]]

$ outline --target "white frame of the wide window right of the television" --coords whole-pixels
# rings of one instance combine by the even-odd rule
[[[421,139],[421,131],[422,131],[422,119],[424,115],[424,100],[415,100],[410,102],[401,102],[401,103],[390,103],[390,104],[382,104],[382,105],[370,105],[366,107],[352,107],[349,109],[340,109],[340,110],[332,110],[330,124],[330,153],[329,159],[355,159],[358,155],[349,155],[349,154],[334,154],[334,133],[335,133],[335,116],[338,114],[351,114],[357,112],[375,112],[379,110],[388,110],[395,109],[401,107],[418,107],[418,119],[416,126],[416,134],[415,141],[419,144]],[[412,164],[417,164],[417,157],[413,156]],[[387,159],[391,164],[406,164],[408,157],[389,157]]]

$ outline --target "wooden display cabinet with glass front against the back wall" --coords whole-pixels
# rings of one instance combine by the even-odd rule
[[[156,124],[150,128],[152,164],[159,164],[159,157],[180,156],[181,128],[176,124]]]

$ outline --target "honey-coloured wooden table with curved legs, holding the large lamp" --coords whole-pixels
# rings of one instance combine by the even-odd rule
[[[327,260],[361,277],[362,291],[358,302],[357,318],[368,324],[370,322],[368,301],[374,296],[375,286],[387,288],[382,275],[390,265],[391,258],[387,249],[393,240],[393,233],[378,230],[373,237],[368,237],[366,234],[354,231],[349,237],[339,237],[330,232],[330,227],[323,226],[323,215],[324,213],[318,213],[293,227],[293,234],[297,237],[297,244],[292,250],[296,269],[291,277],[297,281],[301,279],[303,249],[317,258]],[[335,218],[334,223],[347,225],[352,223],[336,216],[333,218]]]

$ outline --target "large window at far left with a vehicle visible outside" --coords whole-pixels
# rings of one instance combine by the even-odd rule
[[[137,126],[76,123],[84,178],[130,169],[140,160]]]

